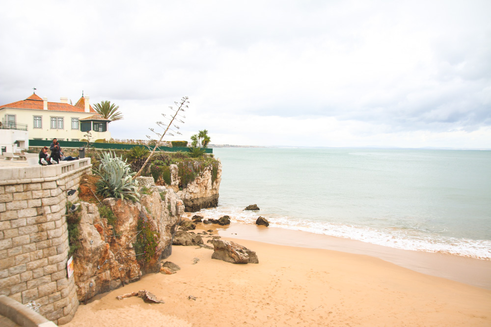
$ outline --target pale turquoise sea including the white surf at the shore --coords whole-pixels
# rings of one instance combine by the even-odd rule
[[[491,259],[491,151],[214,149],[218,207],[254,224]],[[243,211],[256,203],[259,212]]]

